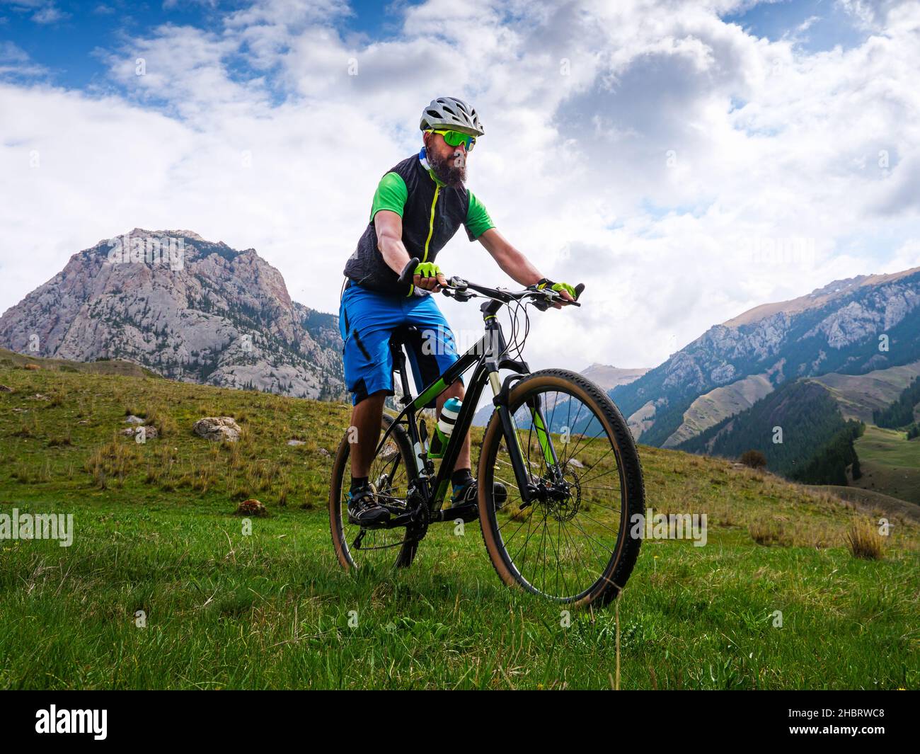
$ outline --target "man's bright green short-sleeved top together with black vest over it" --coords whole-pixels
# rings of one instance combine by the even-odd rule
[[[389,170],[377,185],[371,216],[358,247],[345,265],[345,275],[357,284],[380,293],[408,296],[408,285],[397,283],[377,249],[374,215],[390,210],[403,219],[402,240],[410,257],[434,261],[457,228],[475,241],[495,227],[486,208],[466,187],[453,189],[434,179],[424,159],[424,149]]]

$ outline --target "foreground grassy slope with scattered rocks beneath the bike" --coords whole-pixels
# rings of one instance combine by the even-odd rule
[[[615,609],[569,623],[502,586],[477,524],[432,527],[408,573],[340,572],[324,451],[344,405],[2,364],[0,384],[0,513],[75,516],[69,548],[0,541],[0,688],[615,683]],[[119,435],[128,413],[161,436]],[[205,415],[241,440],[192,435]],[[640,452],[649,505],[706,513],[708,540],[643,544],[618,603],[622,688],[920,686],[914,521],[890,516],[884,557],[857,560],[845,537],[868,514],[832,494]],[[250,495],[270,515],[247,536],[232,514]]]

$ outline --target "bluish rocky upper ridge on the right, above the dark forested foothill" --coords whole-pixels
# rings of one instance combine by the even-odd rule
[[[914,268],[834,281],[808,296],[755,307],[611,396],[643,443],[684,447],[788,381],[866,375],[918,359]]]

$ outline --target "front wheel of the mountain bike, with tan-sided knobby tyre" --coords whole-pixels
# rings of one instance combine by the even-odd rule
[[[537,407],[551,449],[546,433],[538,432]],[[524,377],[511,390],[509,411],[524,469],[543,493],[529,504],[523,500],[499,413],[493,413],[477,472],[489,559],[509,586],[576,606],[605,605],[636,563],[641,539],[630,534],[632,516],[645,514],[642,469],[627,423],[601,389],[563,369]],[[494,481],[508,491],[500,510]]]

